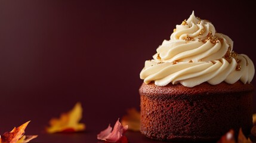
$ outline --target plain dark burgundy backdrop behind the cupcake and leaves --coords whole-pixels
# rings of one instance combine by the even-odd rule
[[[144,61],[193,10],[256,63],[252,2],[0,1],[0,134],[32,120],[33,142],[97,142],[128,108],[139,110]],[[43,132],[78,101],[85,133]]]

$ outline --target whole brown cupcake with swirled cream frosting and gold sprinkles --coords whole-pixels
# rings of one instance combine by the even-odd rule
[[[140,78],[141,133],[161,141],[215,141],[252,127],[254,64],[229,36],[195,17],[176,26]]]

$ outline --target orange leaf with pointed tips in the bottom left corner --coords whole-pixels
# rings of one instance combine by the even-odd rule
[[[25,129],[29,122],[24,123],[18,128],[14,127],[11,132],[5,132],[4,135],[2,135],[0,138],[0,143],[24,143],[36,138],[38,135],[24,135]]]

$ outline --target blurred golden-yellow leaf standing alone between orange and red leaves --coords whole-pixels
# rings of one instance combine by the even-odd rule
[[[50,127],[46,130],[48,133],[55,133],[55,132],[80,132],[85,130],[85,124],[79,123],[82,119],[82,106],[81,103],[78,102],[67,113],[63,113],[60,116],[60,119],[51,119],[50,120]]]

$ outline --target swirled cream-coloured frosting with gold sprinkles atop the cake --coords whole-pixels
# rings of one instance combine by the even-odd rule
[[[240,80],[245,84],[255,73],[252,60],[233,51],[232,39],[217,33],[208,20],[195,17],[194,11],[176,25],[170,40],[164,40],[156,52],[141,70],[140,78],[145,83],[193,87],[203,82],[217,85]]]

